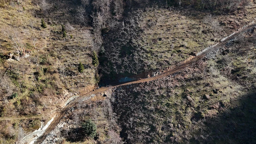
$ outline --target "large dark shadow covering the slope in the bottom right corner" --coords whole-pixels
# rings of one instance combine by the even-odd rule
[[[206,119],[201,129],[192,134],[190,143],[256,143],[256,92],[231,103],[238,105],[224,107],[223,113]]]

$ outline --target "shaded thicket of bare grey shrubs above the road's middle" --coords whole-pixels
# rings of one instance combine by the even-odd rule
[[[136,43],[140,27],[140,11],[131,13],[126,22],[116,25],[104,38],[104,53],[101,55],[103,74],[130,75],[145,70],[145,52]]]

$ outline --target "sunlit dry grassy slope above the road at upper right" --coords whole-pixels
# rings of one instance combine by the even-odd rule
[[[252,4],[246,10],[229,15],[213,15],[192,8],[148,8],[141,14],[143,31],[137,42],[156,69],[168,68],[209,45],[219,43],[252,21],[256,16],[255,7]]]

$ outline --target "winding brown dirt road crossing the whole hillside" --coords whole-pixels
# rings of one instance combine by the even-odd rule
[[[105,92],[107,91],[108,89],[112,89],[114,87],[118,87],[118,86],[123,86],[123,85],[129,85],[129,84],[137,84],[137,83],[144,83],[144,82],[148,82],[148,81],[153,81],[153,80],[157,80],[157,79],[160,79],[160,78],[163,78],[165,76],[169,76],[171,74],[174,74],[176,72],[179,72],[180,70],[188,67],[189,65],[197,62],[198,60],[204,58],[204,56],[209,53],[209,52],[212,52],[214,49],[216,48],[219,48],[221,46],[224,46],[225,44],[227,44],[231,39],[233,39],[234,37],[238,36],[239,34],[241,33],[244,33],[245,31],[247,31],[248,29],[251,29],[253,27],[256,27],[256,23],[250,25],[250,26],[247,26],[245,27],[244,29],[240,30],[239,32],[236,32],[236,34],[234,34],[233,36],[230,36],[229,38],[227,38],[226,40],[224,40],[223,42],[221,42],[220,44],[208,49],[207,51],[201,53],[200,55],[194,57],[193,59],[179,65],[179,66],[176,66],[158,76],[155,76],[155,77],[150,77],[150,78],[145,78],[145,79],[140,79],[140,80],[137,80],[137,81],[132,81],[132,82],[128,82],[128,83],[124,83],[124,84],[119,84],[119,85],[115,85],[115,86],[110,86],[110,87],[101,87],[101,88],[98,88],[96,89],[95,91],[92,91],[86,95],[83,95],[83,96],[80,96],[78,97],[76,100],[70,102],[65,108],[63,108],[63,110],[59,113],[59,115],[54,118],[54,120],[52,121],[52,123],[49,125],[49,127],[46,129],[46,131],[44,132],[44,134],[39,137],[37,139],[37,141],[35,142],[36,144],[40,144],[43,142],[43,140],[46,138],[46,136],[55,128],[55,126],[60,122],[61,118],[66,114],[66,112],[68,112],[68,110],[72,107],[75,106],[75,104],[79,101],[82,101],[84,98],[92,95],[92,94],[97,94],[97,93],[100,93],[100,92]]]

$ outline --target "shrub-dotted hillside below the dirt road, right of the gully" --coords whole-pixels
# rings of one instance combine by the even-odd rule
[[[255,31],[228,45],[174,76],[118,88],[126,142],[254,143]]]

